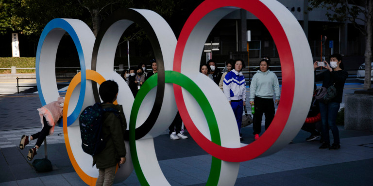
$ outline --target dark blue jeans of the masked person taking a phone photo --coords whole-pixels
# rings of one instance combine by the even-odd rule
[[[322,121],[322,139],[326,144],[330,144],[329,129],[332,131],[334,144],[339,145],[339,130],[336,125],[337,114],[339,111],[339,103],[329,102],[327,104],[320,102],[320,113]]]

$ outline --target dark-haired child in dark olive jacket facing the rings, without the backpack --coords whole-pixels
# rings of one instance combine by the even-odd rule
[[[119,111],[119,116],[114,112],[105,112],[103,115],[102,133],[106,146],[97,155],[93,155],[93,165],[99,169],[99,177],[96,186],[111,186],[114,182],[117,164],[126,161],[126,147],[124,144],[124,133],[127,124],[124,119],[121,105],[114,105],[118,96],[118,84],[113,80],[104,81],[99,88],[100,97],[103,101],[101,107],[115,108]]]

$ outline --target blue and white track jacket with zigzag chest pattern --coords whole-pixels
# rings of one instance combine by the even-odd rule
[[[245,77],[241,72],[237,72],[235,69],[228,72],[224,77],[223,92],[225,97],[230,100],[246,101],[246,83]]]

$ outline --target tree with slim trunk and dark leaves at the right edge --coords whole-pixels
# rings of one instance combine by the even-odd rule
[[[313,8],[326,8],[328,11],[325,15],[329,20],[343,23],[350,21],[365,35],[364,89],[371,88],[373,0],[309,0],[308,3],[309,11]],[[364,26],[358,25],[357,21],[363,21]]]

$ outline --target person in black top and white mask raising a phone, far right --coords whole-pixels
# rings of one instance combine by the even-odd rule
[[[321,121],[322,121],[322,140],[323,143],[319,149],[337,150],[340,148],[339,144],[339,130],[336,125],[337,113],[339,111],[339,105],[342,102],[344,83],[348,77],[348,73],[343,69],[342,56],[340,54],[333,54],[330,56],[330,65],[327,62],[326,71],[315,76],[315,82],[322,80],[322,87],[328,88],[333,85],[336,90],[336,96],[331,99],[328,103],[319,103]],[[313,69],[316,70],[318,67],[318,61],[313,63]],[[329,130],[331,129],[333,134],[334,143],[330,146]]]

